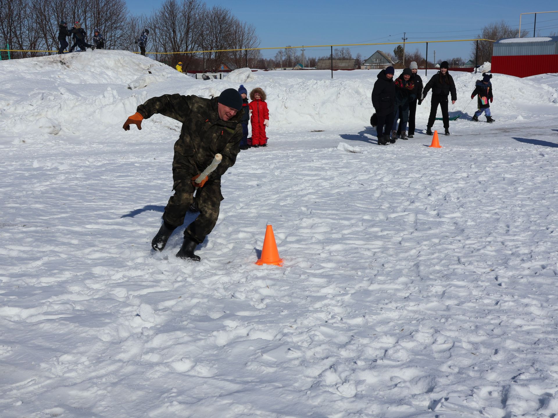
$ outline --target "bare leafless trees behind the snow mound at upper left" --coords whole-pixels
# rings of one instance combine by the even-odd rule
[[[222,6],[208,7],[201,0],[165,0],[151,14],[133,15],[124,0],[0,0],[0,49],[9,45],[12,58],[55,54],[60,21],[80,22],[88,36],[97,28],[108,49],[138,51],[137,38],[150,30],[148,52],[210,51],[257,48],[256,28],[239,20]],[[40,22],[40,23],[39,23]],[[153,55],[152,55],[153,56]],[[216,68],[222,62],[243,67],[259,51],[155,54],[169,65],[181,61],[183,68]],[[2,54],[5,59],[6,52]]]

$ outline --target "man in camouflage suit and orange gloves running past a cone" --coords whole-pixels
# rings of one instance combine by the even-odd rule
[[[199,187],[196,203],[200,214],[184,231],[184,243],[176,256],[200,260],[194,250],[217,223],[219,205],[223,200],[221,176],[234,165],[240,150],[241,109],[242,97],[235,89],[224,90],[213,99],[166,94],[139,105],[136,114],[124,123],[124,130],[129,130],[131,124],[141,129],[141,121],[156,113],[182,122],[172,161],[172,189],[175,193],[165,207],[161,229],[151,242],[154,250],[162,251],[172,231],[184,223],[184,216],[194,203],[194,191]],[[211,164],[215,154],[223,156],[221,163],[201,183],[194,183]]]

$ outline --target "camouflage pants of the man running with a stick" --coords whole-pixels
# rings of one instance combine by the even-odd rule
[[[165,207],[165,213],[163,213],[163,221],[169,225],[181,226],[184,223],[186,212],[194,203],[195,188],[190,182],[191,177],[190,174],[173,170],[174,185],[172,189],[175,193],[170,197],[169,203]],[[195,199],[200,214],[184,230],[184,236],[190,236],[201,244],[205,240],[205,236],[213,230],[219,217],[219,206],[223,200],[220,179],[206,182],[205,186],[196,192]]]

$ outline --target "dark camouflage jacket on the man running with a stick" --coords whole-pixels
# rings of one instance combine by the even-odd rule
[[[173,169],[195,176],[211,164],[215,154],[221,154],[223,160],[210,176],[217,180],[234,165],[242,139],[242,111],[225,122],[219,119],[217,99],[165,94],[137,107],[145,119],[159,113],[182,122],[180,137],[174,145]]]

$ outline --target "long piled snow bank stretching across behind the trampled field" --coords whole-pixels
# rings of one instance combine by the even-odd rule
[[[485,63],[489,64],[489,63]],[[399,71],[398,71],[399,72]],[[396,72],[396,76],[398,75]],[[195,80],[169,66],[127,51],[88,51],[0,62],[0,129],[6,143],[52,140],[60,133],[88,138],[93,126],[117,129],[136,106],[166,93],[218,96],[226,88],[248,91],[260,87],[267,94],[273,129],[296,130],[362,127],[374,109],[371,94],[378,71],[256,71],[239,69],[223,80]],[[421,75],[424,83],[428,77]],[[419,73],[420,75],[420,73]],[[458,101],[452,115],[472,115],[470,94],[480,74],[452,73]],[[521,106],[556,104],[554,86],[537,80],[494,74],[493,114],[514,121]],[[147,88],[150,93],[147,94]],[[417,109],[417,125],[426,124],[430,97]],[[169,129],[174,121],[158,118]],[[145,133],[145,132],[144,132]],[[143,138],[143,137],[140,137]]]

